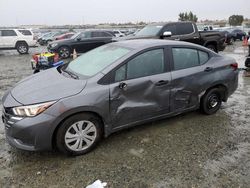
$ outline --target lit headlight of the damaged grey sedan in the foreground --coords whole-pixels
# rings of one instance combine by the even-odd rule
[[[12,108],[14,115],[21,116],[21,117],[33,117],[36,116],[47,108],[49,108],[52,104],[56,101],[46,102],[41,104],[29,105],[29,106],[18,106]]]

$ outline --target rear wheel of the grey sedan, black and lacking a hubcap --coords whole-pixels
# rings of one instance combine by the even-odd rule
[[[211,115],[216,113],[221,107],[222,99],[218,88],[208,90],[200,102],[200,109],[203,113]]]

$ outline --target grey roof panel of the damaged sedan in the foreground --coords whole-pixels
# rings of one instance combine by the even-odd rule
[[[176,46],[176,45],[206,49],[200,45],[192,44],[189,42],[162,40],[162,39],[124,40],[124,41],[119,41],[119,42],[115,42],[111,44],[115,44],[115,45],[122,46],[125,48],[132,48],[132,49],[144,49],[144,48],[151,48],[151,47],[156,47],[156,46]]]

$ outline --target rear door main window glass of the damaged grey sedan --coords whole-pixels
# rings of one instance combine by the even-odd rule
[[[174,70],[186,69],[199,65],[197,50],[189,48],[173,48]]]

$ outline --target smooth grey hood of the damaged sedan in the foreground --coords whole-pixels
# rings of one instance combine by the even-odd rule
[[[76,95],[85,85],[86,80],[65,77],[52,68],[20,81],[11,90],[11,95],[17,102],[29,105]]]

